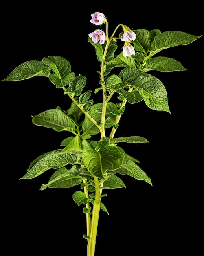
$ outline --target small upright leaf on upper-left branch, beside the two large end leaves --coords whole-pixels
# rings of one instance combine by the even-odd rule
[[[72,94],[80,95],[83,88],[86,85],[86,76],[82,76],[79,74],[79,76],[75,77],[75,79],[69,84],[67,90],[64,92],[64,94]]]

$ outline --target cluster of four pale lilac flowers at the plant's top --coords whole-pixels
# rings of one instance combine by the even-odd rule
[[[95,12],[91,14],[90,22],[95,25],[101,25],[107,22],[107,19],[103,13]],[[135,55],[134,47],[130,44],[131,41],[136,39],[136,34],[127,26],[121,24],[123,27],[123,36],[121,36],[121,41],[125,42],[123,46],[123,56]],[[94,32],[89,33],[88,36],[92,38],[94,43],[100,43],[103,45],[105,43],[105,33],[101,29],[96,29]]]

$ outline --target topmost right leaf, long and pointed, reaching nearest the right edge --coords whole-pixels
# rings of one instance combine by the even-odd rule
[[[151,56],[160,52],[163,49],[167,49],[179,45],[188,45],[201,36],[193,36],[191,34],[180,31],[166,31],[155,36],[151,48]]]

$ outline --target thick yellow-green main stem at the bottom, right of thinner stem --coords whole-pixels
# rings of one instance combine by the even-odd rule
[[[99,212],[100,212],[100,202],[101,202],[99,180],[96,176],[94,176],[94,182],[95,182],[96,192],[95,192],[95,200],[94,200],[94,206],[93,206],[93,211],[92,211],[88,256],[95,255],[97,228],[98,228],[98,223],[99,223]]]

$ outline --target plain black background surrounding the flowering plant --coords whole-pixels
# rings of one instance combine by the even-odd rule
[[[95,11],[107,17],[109,34],[119,23],[133,29],[203,34],[202,11],[196,1],[191,5],[113,2],[111,8],[108,4],[5,4],[1,17],[0,80],[24,61],[59,55],[70,61],[76,75],[87,77],[87,90],[99,87],[100,63],[87,41],[88,34],[97,28],[90,23]],[[158,54],[175,58],[188,69],[151,72],[165,85],[171,114],[151,110],[143,102],[127,104],[116,137],[139,135],[149,141],[120,146],[140,160],[153,187],[122,176],[126,189],[104,190],[108,196],[103,203],[110,215],[100,213],[96,256],[170,252],[198,255],[203,226],[202,46],[203,37]],[[101,101],[100,96],[100,92],[93,96],[95,102]],[[33,180],[19,180],[36,157],[59,148],[62,139],[68,137],[66,132],[34,126],[31,115],[57,106],[66,110],[70,107],[69,98],[47,78],[35,77],[1,81],[1,104],[1,212],[7,252],[86,255],[86,218],[83,207],[72,200],[72,194],[80,187],[39,191],[52,171]]]

